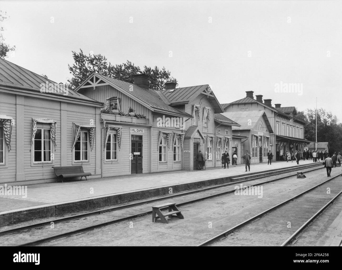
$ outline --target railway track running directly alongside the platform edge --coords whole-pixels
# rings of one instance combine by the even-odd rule
[[[259,183],[250,183],[250,182],[253,182],[253,181],[255,182],[255,180],[260,179],[260,178],[265,178],[265,176],[263,176],[263,177],[255,177],[255,178],[248,179],[248,180],[236,181],[236,182],[227,183],[227,184],[224,184],[224,185],[219,185],[219,186],[214,186],[214,187],[202,188],[202,189],[198,189],[198,190],[195,190],[195,191],[188,191],[188,192],[184,192],[184,193],[173,194],[173,195],[169,195],[169,196],[163,197],[163,198],[156,198],[156,199],[152,199],[152,200],[147,200],[147,201],[127,204],[127,205],[122,205],[122,206],[117,206],[117,207],[111,207],[111,208],[107,208],[105,210],[93,211],[93,212],[89,212],[89,213],[85,213],[85,214],[80,214],[80,215],[74,215],[74,216],[70,216],[70,217],[66,217],[66,218],[49,220],[49,221],[46,221],[46,222],[41,222],[41,223],[37,223],[37,224],[33,224],[33,225],[17,227],[17,228],[10,229],[10,230],[0,231],[0,235],[2,235],[2,239],[4,239],[3,237],[6,236],[6,235],[13,235],[13,234],[22,235],[20,233],[30,232],[33,229],[41,230],[41,229],[44,229],[44,228],[45,229],[46,228],[50,228],[51,224],[53,224],[54,226],[57,225],[57,224],[60,224],[60,225],[61,224],[65,224],[66,227],[69,229],[69,227],[73,227],[72,224],[70,224],[70,222],[72,222],[72,221],[75,221],[75,222],[86,221],[86,222],[88,222],[87,219],[89,217],[91,217],[91,216],[94,216],[94,219],[97,219],[98,216],[106,214],[108,212],[116,213],[115,211],[119,211],[119,210],[125,209],[125,212],[126,212],[125,214],[126,215],[124,215],[122,217],[119,217],[119,218],[113,219],[113,217],[111,217],[110,220],[108,220],[108,218],[107,218],[107,220],[104,221],[104,222],[97,222],[97,223],[92,224],[90,226],[84,226],[84,227],[78,228],[78,229],[71,229],[71,230],[69,229],[68,231],[62,230],[62,232],[57,233],[57,234],[52,233],[52,235],[48,235],[48,236],[43,237],[43,238],[39,237],[38,239],[34,239],[32,241],[28,241],[28,242],[25,242],[25,243],[20,242],[20,243],[16,243],[15,244],[17,246],[37,245],[39,243],[43,243],[43,242],[46,242],[46,241],[51,241],[51,240],[65,238],[65,237],[68,237],[70,235],[79,234],[79,233],[86,232],[86,231],[89,231],[89,230],[92,230],[92,229],[104,227],[104,226],[107,226],[107,225],[110,225],[110,224],[115,224],[115,223],[122,222],[122,221],[125,221],[125,220],[130,220],[130,219],[142,216],[142,215],[150,214],[150,213],[152,213],[152,211],[141,211],[141,208],[139,208],[139,207],[140,206],[144,206],[145,209],[146,208],[150,209],[150,203],[151,202],[159,202],[159,201],[163,201],[163,200],[170,200],[170,198],[174,198],[174,197],[186,197],[187,195],[196,194],[196,193],[203,194],[205,192],[211,192],[212,190],[215,190],[215,189],[218,190],[218,192],[214,192],[213,194],[211,193],[211,194],[207,194],[206,196],[199,196],[198,198],[195,198],[195,199],[192,199],[192,200],[188,200],[188,201],[183,201],[181,203],[177,203],[178,206],[185,205],[185,204],[190,204],[190,203],[194,203],[194,202],[197,202],[197,201],[202,201],[202,200],[213,198],[213,197],[216,197],[216,196],[219,196],[219,195],[223,195],[223,194],[226,194],[226,193],[234,192],[236,189],[228,189],[228,190],[224,190],[224,191],[220,191],[220,189],[224,189],[224,188],[227,188],[229,186],[236,185],[238,183],[247,183],[248,182],[251,185],[262,185],[262,184],[266,184],[266,183],[270,183],[270,182],[273,182],[273,181],[277,181],[277,180],[280,180],[280,179],[284,179],[284,178],[287,178],[287,177],[294,176],[297,173],[293,174],[291,172],[293,172],[293,171],[297,172],[298,170],[300,170],[302,168],[303,167],[295,167],[293,170],[287,171],[285,173],[282,172],[282,173],[270,174],[269,176],[266,176],[266,177],[276,176],[276,178],[272,178],[272,179],[269,179],[267,181],[261,181]],[[321,166],[319,166],[318,168],[316,168],[316,166],[315,166],[313,169],[305,171],[304,173],[315,171],[315,170],[319,170],[321,168],[322,168]],[[278,177],[277,175],[279,175],[279,174],[286,174],[286,176]],[[136,209],[136,207],[138,207],[139,209]],[[131,211],[131,214],[127,214],[127,209]],[[122,214],[118,214],[118,215],[122,215]],[[95,220],[95,221],[98,221],[98,220]],[[53,231],[53,230],[49,230],[49,231],[50,231],[49,233],[51,233],[51,231]],[[32,238],[34,238],[34,236]]]

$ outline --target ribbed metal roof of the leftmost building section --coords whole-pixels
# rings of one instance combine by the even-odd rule
[[[48,84],[56,83],[28,69],[22,68],[3,58],[0,58],[0,86],[9,87],[16,90],[40,93],[40,84],[43,83],[45,85],[46,82],[48,82]],[[63,98],[72,98],[101,104],[100,102],[97,102],[90,97],[76,93],[71,89],[68,89],[68,91],[68,95],[63,95],[64,93],[43,93],[43,95],[61,96]]]

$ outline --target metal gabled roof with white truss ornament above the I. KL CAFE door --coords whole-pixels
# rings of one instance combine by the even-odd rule
[[[121,93],[127,95],[128,97],[132,98],[133,100],[135,100],[136,102],[140,103],[141,105],[145,106],[153,112],[193,118],[192,115],[187,114],[184,111],[181,111],[177,108],[171,107],[170,105],[163,102],[163,100],[159,97],[157,93],[158,91],[156,90],[144,89],[142,87],[135,85],[134,83],[117,80],[97,73],[92,73],[92,75],[90,75],[87,80],[85,80],[80,86],[78,86],[75,91],[82,92],[82,90],[85,89],[84,87],[88,85],[87,83],[89,83],[88,81],[92,79],[92,77],[94,77],[94,80],[95,78],[97,78],[97,80],[101,82],[100,84],[95,85],[109,84],[110,86],[119,90]],[[89,85],[89,87],[93,86]]]

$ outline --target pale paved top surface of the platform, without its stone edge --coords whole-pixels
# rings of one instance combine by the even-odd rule
[[[312,164],[311,160],[301,160],[300,165]],[[318,162],[317,162],[318,163]],[[19,210],[42,205],[69,203],[84,199],[123,194],[128,192],[149,190],[160,187],[172,187],[179,184],[215,179],[220,177],[263,172],[266,170],[297,166],[296,162],[272,162],[251,164],[251,171],[245,172],[245,165],[230,165],[228,169],[222,167],[210,168],[202,171],[174,171],[126,175],[106,178],[93,178],[87,181],[72,181],[58,183],[43,183],[27,185],[26,196],[0,195],[0,212]],[[338,167],[333,170],[340,170]],[[4,184],[0,184],[4,186]],[[26,198],[23,198],[26,197]]]

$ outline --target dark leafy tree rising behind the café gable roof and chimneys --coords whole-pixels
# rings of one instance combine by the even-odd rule
[[[144,66],[144,70],[142,71],[139,66],[135,66],[129,60],[126,63],[114,66],[107,63],[107,58],[101,54],[89,54],[87,56],[81,49],[79,53],[74,51],[72,53],[75,63],[73,66],[68,65],[70,73],[73,75],[68,80],[71,89],[79,86],[93,72],[130,83],[134,82],[134,74],[144,73],[149,76],[149,86],[154,90],[163,89],[167,81],[177,82],[175,78],[170,76],[170,71],[166,70],[165,67],[159,69],[157,66],[154,68]]]

